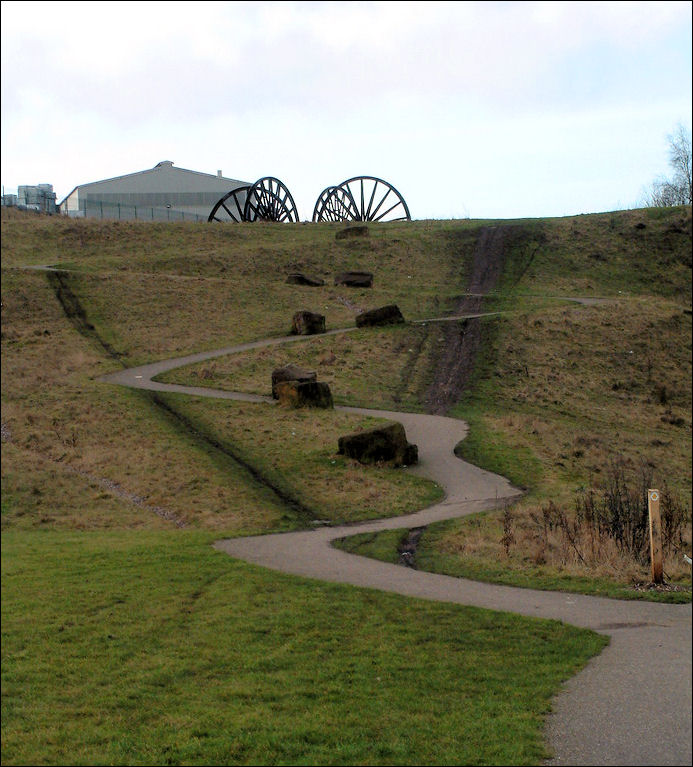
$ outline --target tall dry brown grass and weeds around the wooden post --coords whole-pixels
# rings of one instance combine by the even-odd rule
[[[486,572],[486,579],[509,585],[690,601],[690,565],[683,558],[690,550],[690,508],[667,490],[662,492],[666,585],[646,589],[651,581],[646,486],[651,483],[643,479],[642,486],[628,485],[622,468],[614,467],[609,487],[579,492],[572,506],[549,500],[447,523],[427,531],[417,562],[426,568],[440,555],[458,575]],[[433,567],[446,571],[440,563]]]

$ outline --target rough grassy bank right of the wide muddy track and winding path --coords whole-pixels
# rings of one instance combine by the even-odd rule
[[[482,321],[473,381],[453,414],[470,424],[458,455],[527,494],[508,512],[434,526],[420,541],[419,567],[530,588],[690,600],[690,254],[685,208],[544,222],[531,246],[510,254],[495,296],[504,313]],[[584,296],[604,300],[565,300]],[[679,591],[644,588],[646,550],[633,555],[608,539],[595,546],[594,526],[580,528],[576,507],[615,485],[633,505],[624,488],[642,498],[643,488],[658,487],[675,499],[678,527],[664,569]],[[396,561],[403,533],[383,535],[340,545]]]

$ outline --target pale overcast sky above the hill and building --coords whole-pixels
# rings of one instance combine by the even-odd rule
[[[690,2],[2,2],[2,185],[352,176],[412,217],[635,207],[691,127]]]

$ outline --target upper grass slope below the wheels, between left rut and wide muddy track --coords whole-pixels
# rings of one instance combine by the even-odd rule
[[[389,303],[406,319],[437,316],[449,308],[466,268],[466,259],[451,259],[451,252],[472,248],[477,226],[380,224],[367,238],[337,241],[332,224],[210,227],[20,217],[3,221],[3,266],[51,263],[74,270],[71,286],[90,322],[130,364],[139,364],[285,335],[294,312],[303,309],[324,314],[330,328],[353,325],[357,308]],[[348,270],[373,272],[373,287],[336,287],[335,274]],[[287,285],[287,274],[296,271],[326,284]]]

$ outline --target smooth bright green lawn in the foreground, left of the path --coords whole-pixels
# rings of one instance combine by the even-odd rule
[[[3,764],[538,764],[551,697],[607,641],[211,540],[3,535]]]

